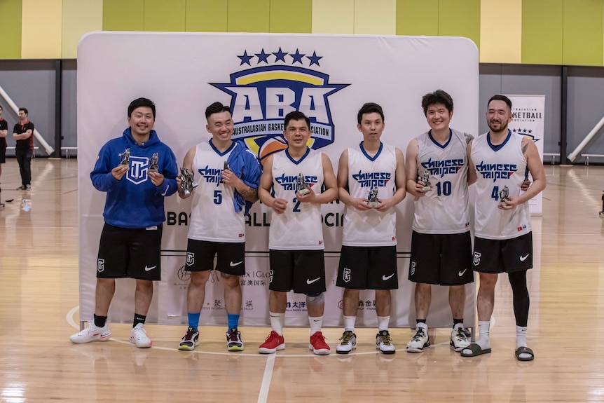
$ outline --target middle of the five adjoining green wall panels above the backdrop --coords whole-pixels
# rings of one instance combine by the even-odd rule
[[[187,32],[227,32],[226,0],[186,0]]]

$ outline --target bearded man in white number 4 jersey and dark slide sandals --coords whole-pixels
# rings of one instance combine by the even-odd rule
[[[526,271],[533,267],[533,233],[528,200],[545,189],[546,179],[537,146],[530,137],[507,128],[512,121],[512,102],[505,95],[488,101],[486,121],[490,129],[468,145],[469,183],[476,182],[474,271],[480,273],[476,298],[479,340],[461,352],[462,357],[491,352],[490,317],[495,303],[498,273],[507,273],[512,286],[516,317],[516,358],[535,357],[527,347],[529,296]],[[533,186],[521,193],[527,173]]]

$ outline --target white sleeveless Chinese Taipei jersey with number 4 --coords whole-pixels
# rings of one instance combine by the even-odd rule
[[[511,239],[529,233],[528,203],[513,210],[497,208],[500,191],[507,186],[509,196],[519,196],[528,169],[522,153],[523,135],[508,130],[505,141],[493,146],[488,134],[472,142],[472,163],[476,167],[476,219],[474,232],[485,239]]]

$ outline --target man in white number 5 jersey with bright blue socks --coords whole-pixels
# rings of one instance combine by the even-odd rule
[[[210,141],[201,142],[184,157],[183,167],[194,174],[198,186],[181,198],[193,197],[188,228],[186,264],[191,283],[186,292],[188,329],[179,350],[193,350],[199,344],[199,317],[205,298],[205,285],[214,268],[224,285],[228,318],[226,346],[242,351],[238,330],[241,312],[240,275],[245,274],[245,214],[258,200],[262,173],[256,156],[242,142],[233,142],[231,109],[214,102],[205,109]],[[227,168],[228,167],[228,168]],[[181,189],[181,179],[178,179]]]

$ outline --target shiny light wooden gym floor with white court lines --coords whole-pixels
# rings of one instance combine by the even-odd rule
[[[447,329],[434,348],[406,353],[409,329],[391,329],[397,353],[376,353],[375,329],[359,329],[353,355],[336,355],[341,329],[325,329],[329,356],[308,350],[308,329],[286,329],[287,349],[258,355],[267,328],[244,328],[246,350],[226,353],[225,329],[205,327],[193,352],[183,327],[147,325],[153,348],[113,339],[74,345],[78,322],[77,161],[37,158],[32,191],[16,160],[2,167],[0,198],[0,402],[603,402],[604,168],[546,166],[543,216],[533,217],[529,346],[514,357],[512,293],[500,279],[493,353],[462,358]],[[31,193],[31,194],[29,194]],[[22,198],[32,210],[20,209]],[[540,253],[539,253],[540,250]],[[401,280],[406,281],[406,280]],[[600,339],[600,336],[603,336]]]

